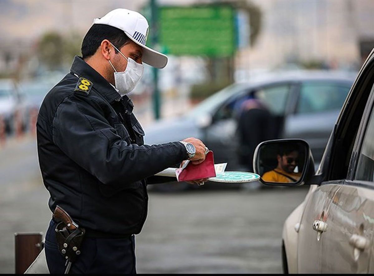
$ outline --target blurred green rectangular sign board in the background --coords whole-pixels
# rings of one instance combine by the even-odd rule
[[[160,6],[159,43],[172,55],[232,56],[235,16],[229,5]]]

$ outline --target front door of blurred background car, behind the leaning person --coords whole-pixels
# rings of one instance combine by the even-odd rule
[[[228,162],[227,169],[240,167],[237,155],[240,149],[238,149],[239,139],[236,135],[236,114],[240,103],[249,98],[249,93],[253,93],[255,97],[266,103],[273,114],[283,116],[288,104],[290,87],[289,83],[279,83],[252,88],[221,105],[213,115],[213,123],[205,130],[203,138],[208,148],[214,151],[215,162]]]

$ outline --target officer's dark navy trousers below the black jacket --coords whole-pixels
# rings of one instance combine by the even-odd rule
[[[45,237],[45,254],[51,274],[65,272],[66,260],[58,251],[55,237],[56,223],[51,220]],[[135,236],[129,238],[83,239],[82,253],[71,265],[70,273],[126,273],[136,274]]]

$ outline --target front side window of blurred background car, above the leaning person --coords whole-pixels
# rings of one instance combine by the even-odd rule
[[[263,87],[255,93],[255,97],[262,100],[273,114],[283,115],[289,90],[289,84]]]

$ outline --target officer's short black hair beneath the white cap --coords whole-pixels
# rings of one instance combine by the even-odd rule
[[[93,56],[104,39],[113,43],[117,49],[128,44],[131,40],[122,30],[104,24],[93,24],[82,41],[82,58]],[[117,53],[117,50],[115,50]]]

